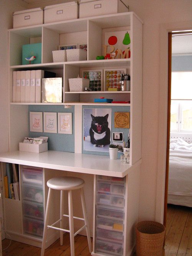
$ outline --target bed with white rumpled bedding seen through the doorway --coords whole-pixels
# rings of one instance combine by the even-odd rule
[[[192,134],[170,134],[167,203],[192,207]]]

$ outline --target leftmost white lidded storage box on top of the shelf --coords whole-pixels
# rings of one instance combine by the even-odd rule
[[[13,12],[13,28],[43,24],[43,8]]]

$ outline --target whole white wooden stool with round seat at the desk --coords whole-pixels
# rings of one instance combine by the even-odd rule
[[[47,181],[47,186],[49,187],[48,192],[48,198],[47,198],[47,206],[46,206],[46,213],[45,213],[45,223],[44,223],[44,230],[43,230],[43,241],[42,241],[42,247],[41,247],[41,256],[44,255],[45,252],[45,242],[46,242],[46,233],[48,228],[53,228],[56,230],[60,230],[60,244],[63,245],[63,232],[70,233],[70,245],[71,245],[71,256],[74,256],[74,236],[78,234],[83,228],[86,228],[87,233],[87,239],[88,239],[88,245],[89,245],[89,251],[91,253],[91,237],[90,237],[90,231],[89,231],[89,223],[88,223],[88,217],[87,217],[87,211],[86,211],[86,205],[85,205],[85,199],[84,199],[84,180],[76,177],[58,177],[58,178],[52,178]],[[81,191],[81,203],[83,208],[83,216],[84,218],[78,218],[73,216],[73,202],[72,202],[72,190],[78,190]],[[53,190],[60,190],[61,191],[61,198],[60,198],[60,219],[53,223],[52,225],[48,225],[48,218],[50,213],[50,207],[51,207],[51,194]],[[64,204],[64,191],[68,191],[68,204],[69,204],[69,215],[63,214],[63,204]],[[69,218],[69,227],[70,229],[63,229],[63,217]],[[84,226],[80,228],[76,233],[74,233],[74,226],[73,226],[73,218],[74,219],[80,219],[84,221]],[[55,227],[54,225],[56,223],[60,222],[60,228]]]

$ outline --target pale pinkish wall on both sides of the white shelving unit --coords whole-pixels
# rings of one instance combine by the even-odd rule
[[[7,105],[7,29],[11,28],[11,13],[18,10],[20,1],[1,0],[0,13],[3,23],[0,25],[0,151],[8,149],[8,105]],[[65,2],[65,1],[58,1]],[[58,3],[57,2],[57,3]],[[11,4],[9,4],[11,3]],[[48,1],[48,4],[56,1]],[[142,112],[142,169],[140,183],[140,219],[156,219],[156,194],[159,160],[159,113],[162,102],[161,94],[161,48],[167,49],[167,41],[161,42],[160,28],[162,23],[185,22],[191,20],[191,0],[129,0],[129,11],[135,12],[144,22],[143,25],[143,112]],[[28,5],[27,8],[39,7],[42,4]],[[192,27],[191,27],[192,28]],[[160,45],[160,42],[164,44]],[[163,73],[166,76],[166,72]],[[165,78],[166,80],[167,78]],[[165,100],[165,99],[164,99]],[[164,104],[164,103],[163,103]],[[159,110],[160,109],[160,110]],[[164,116],[162,117],[164,119]],[[166,129],[166,126],[163,127]],[[161,143],[160,143],[161,144]],[[161,147],[160,147],[161,148]],[[164,147],[162,146],[163,150]],[[159,162],[158,162],[159,161]],[[160,170],[160,177],[164,170]],[[162,185],[163,186],[163,181]],[[157,202],[158,203],[158,202]],[[158,220],[158,219],[156,219]]]

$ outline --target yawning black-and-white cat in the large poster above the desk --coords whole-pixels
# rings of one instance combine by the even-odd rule
[[[91,128],[89,130],[89,135],[91,143],[97,147],[104,147],[110,144],[111,131],[108,127],[108,116],[93,116],[91,121]]]

